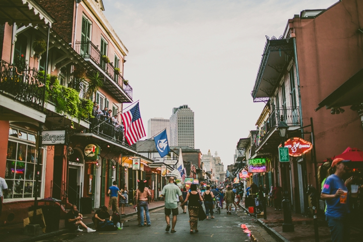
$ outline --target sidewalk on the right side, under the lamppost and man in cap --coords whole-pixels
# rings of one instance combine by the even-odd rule
[[[242,205],[242,206],[241,206]],[[247,213],[248,208],[245,208],[245,201],[241,202],[241,207]],[[257,221],[264,227],[277,241],[291,242],[311,242],[315,241],[314,220],[313,218],[305,217],[301,214],[292,213],[292,223],[294,224],[294,232],[282,232],[283,210],[275,211],[273,207],[267,206],[267,219],[259,218]],[[251,215],[253,216],[253,215]],[[328,242],[330,239],[330,230],[325,220],[318,219],[319,240],[320,242]],[[360,241],[359,231],[356,229],[350,230],[350,240]]]

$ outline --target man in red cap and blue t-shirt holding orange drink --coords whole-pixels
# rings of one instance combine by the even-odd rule
[[[325,180],[321,199],[326,200],[326,221],[330,228],[331,239],[333,242],[349,241],[349,204],[348,189],[342,179],[346,172],[346,162],[336,158],[333,160],[330,174]]]

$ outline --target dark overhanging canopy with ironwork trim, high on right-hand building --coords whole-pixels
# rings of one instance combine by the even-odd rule
[[[272,96],[293,51],[292,39],[276,39],[274,36],[271,39],[267,36],[266,38],[260,68],[251,93],[254,102],[267,101]]]

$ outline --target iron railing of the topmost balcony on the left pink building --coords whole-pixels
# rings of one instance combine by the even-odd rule
[[[105,63],[102,59],[102,53],[98,46],[94,45],[91,41],[78,41],[75,45],[75,50],[83,58],[90,58],[97,64],[106,74],[112,79],[125,93],[132,99],[133,89],[130,85],[124,84],[124,77],[121,74],[115,74],[114,66],[112,63]]]

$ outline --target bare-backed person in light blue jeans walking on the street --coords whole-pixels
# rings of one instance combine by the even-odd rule
[[[144,210],[146,213],[146,223],[147,226],[151,226],[148,198],[151,197],[151,192],[145,187],[146,180],[138,180],[139,188],[136,190],[136,201],[138,205],[138,210],[140,210],[140,227],[144,227]]]

